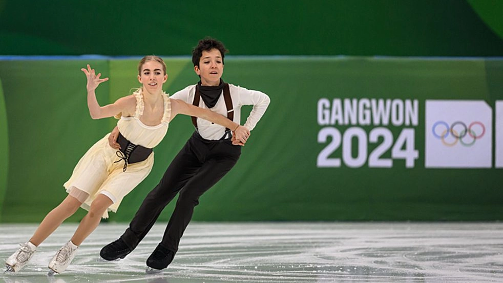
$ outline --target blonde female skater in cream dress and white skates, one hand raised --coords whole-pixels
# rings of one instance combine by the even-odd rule
[[[29,241],[6,260],[8,271],[22,269],[36,248],[79,207],[88,210],[72,238],[63,245],[49,262],[49,275],[65,271],[78,246],[98,226],[108,211],[116,212],[122,198],[133,190],[151,171],[154,164],[152,148],[157,146],[177,114],[197,116],[217,123],[235,132],[235,138],[246,142],[249,131],[227,117],[211,110],[171,99],[162,90],[167,80],[166,65],[157,56],[145,56],[138,64],[138,81],[142,87],[132,95],[119,98],[115,103],[99,106],[95,90],[108,78],[89,65],[82,68],[87,76],[87,101],[93,119],[121,113],[117,122],[120,150],[108,143],[108,134],[98,140],[78,161],[72,176],[64,184],[68,196],[49,212]]]

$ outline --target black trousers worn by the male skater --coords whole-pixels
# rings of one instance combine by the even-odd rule
[[[133,220],[120,236],[132,250],[150,231],[160,213],[179,192],[175,210],[160,244],[177,252],[180,238],[192,219],[199,197],[236,165],[241,147],[230,140],[207,140],[197,132],[166,169],[159,184],[145,197]]]

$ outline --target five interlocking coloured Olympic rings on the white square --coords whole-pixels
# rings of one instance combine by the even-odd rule
[[[448,147],[456,145],[458,141],[460,144],[470,147],[475,144],[477,139],[480,139],[486,134],[486,126],[478,121],[472,122],[468,127],[465,123],[460,121],[456,121],[450,126],[444,121],[437,121],[433,124],[431,130],[433,136],[442,140],[442,143]],[[454,137],[454,141],[451,143],[446,140],[449,135]]]

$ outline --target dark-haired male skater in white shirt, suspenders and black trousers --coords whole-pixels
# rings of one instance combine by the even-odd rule
[[[238,124],[241,124],[241,106],[253,105],[246,123],[240,126],[249,133],[265,113],[270,99],[260,91],[223,82],[225,52],[224,45],[216,39],[207,37],[199,41],[192,52],[192,62],[200,81],[171,97],[227,115]],[[241,154],[240,146],[246,140],[233,139],[231,130],[207,120],[196,117],[192,120],[196,131],[166,169],[159,184],[145,197],[129,228],[119,239],[101,249],[103,259],[115,260],[131,253],[164,207],[180,193],[161,242],[146,260],[147,272],[166,268],[178,251],[180,238],[191,221],[194,207],[199,204],[199,197],[236,165]],[[117,134],[114,132],[109,143],[117,148]]]

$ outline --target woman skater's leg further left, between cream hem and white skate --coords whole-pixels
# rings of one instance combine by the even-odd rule
[[[81,204],[75,197],[68,195],[57,207],[46,215],[37,230],[35,230],[30,242],[38,247],[63,221],[72,216]]]

